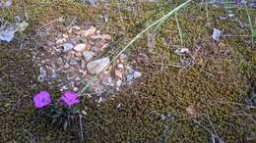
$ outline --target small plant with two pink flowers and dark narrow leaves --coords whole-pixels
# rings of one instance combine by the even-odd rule
[[[33,103],[39,116],[47,118],[51,125],[63,126],[67,130],[79,114],[79,108],[75,107],[79,104],[79,95],[65,91],[60,99],[52,102],[50,94],[44,90],[33,96]]]

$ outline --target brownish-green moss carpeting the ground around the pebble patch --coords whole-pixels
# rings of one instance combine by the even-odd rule
[[[33,34],[42,24],[63,16],[64,23],[52,24],[58,29],[59,25],[68,25],[77,16],[78,23],[95,24],[118,41],[111,53],[114,54],[127,40],[178,3],[156,5],[112,1],[95,8],[66,0],[17,0],[13,8],[2,10],[5,20],[14,22],[15,17],[20,16],[28,19],[31,26],[24,35],[19,35],[30,41],[22,51],[18,50],[21,41],[1,45],[1,142],[29,142],[32,135],[38,142],[80,140],[78,122],[65,132],[45,124],[32,106],[32,96],[40,89],[59,93],[54,86],[36,81],[38,69],[32,63],[30,52],[34,43],[41,40]],[[81,109],[88,115],[83,120],[86,142],[211,142],[211,134],[189,118],[186,108],[191,105],[198,115],[194,119],[212,128],[207,117],[200,115],[209,116],[225,142],[245,142],[248,137],[255,137],[255,124],[246,117],[247,114],[254,118],[255,110],[234,104],[243,103],[249,89],[250,37],[224,38],[218,44],[211,40],[213,27],[233,35],[250,34],[245,11],[233,9],[233,12],[244,27],[241,28],[236,19],[218,20],[218,16],[224,15],[224,9],[213,7],[209,10],[209,24],[206,24],[206,9],[192,3],[178,15],[183,45],[173,18],[160,28],[152,51],[148,48],[147,35],[136,42],[127,51],[130,59],[137,60],[139,53],[145,53],[151,59],[150,63],[136,65],[143,71],[143,78],[100,105],[82,98]],[[251,16],[255,16],[255,12],[250,11]],[[100,19],[102,15],[108,16],[106,23]],[[179,73],[179,69],[159,65],[176,62],[178,57],[173,54],[173,45],[188,47],[196,53],[195,64],[189,70]],[[158,115],[171,114],[174,119],[160,120],[152,116],[153,111]],[[164,134],[166,126],[172,131]]]

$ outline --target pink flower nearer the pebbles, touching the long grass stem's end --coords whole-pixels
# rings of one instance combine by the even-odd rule
[[[64,92],[64,94],[61,96],[61,99],[68,106],[72,106],[79,103],[79,94],[69,90]]]

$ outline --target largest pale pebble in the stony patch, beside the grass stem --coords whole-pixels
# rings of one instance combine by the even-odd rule
[[[87,70],[92,73],[96,74],[102,71],[107,65],[109,65],[110,60],[108,57],[106,58],[101,58],[96,61],[92,61],[87,64]]]

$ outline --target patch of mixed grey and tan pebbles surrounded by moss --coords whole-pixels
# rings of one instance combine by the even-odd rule
[[[132,83],[136,78],[142,76],[140,71],[135,71],[133,67],[127,64],[128,56],[122,53],[116,60],[115,64],[110,65],[109,57],[99,57],[97,60],[93,58],[100,56],[101,51],[106,50],[111,40],[110,34],[102,34],[96,26],[91,26],[88,29],[83,29],[82,26],[72,26],[67,32],[60,33],[55,38],[47,42],[49,51],[43,51],[39,59],[45,71],[41,71],[38,80],[45,81],[50,78],[57,77],[58,87],[62,91],[73,89],[79,91],[81,83],[88,81],[104,70],[100,74],[91,90],[97,95],[101,95],[109,90],[119,90],[124,84]],[[52,41],[52,42],[51,42]],[[43,55],[44,54],[44,55]],[[51,57],[50,59],[45,58]],[[50,65],[55,62],[56,65]],[[107,68],[107,66],[109,66]],[[127,68],[128,67],[128,68]],[[50,68],[50,69],[49,69]],[[128,71],[126,74],[125,71]],[[89,74],[90,73],[90,74]],[[64,75],[63,79],[59,75]],[[63,86],[66,84],[66,86]],[[99,102],[104,101],[99,98]]]

